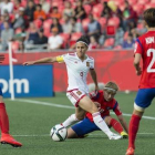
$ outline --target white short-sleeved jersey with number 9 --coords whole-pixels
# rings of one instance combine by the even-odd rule
[[[68,91],[79,89],[89,93],[86,76],[87,72],[94,69],[94,59],[87,56],[84,61],[81,61],[76,53],[68,53],[62,56],[68,70]]]

